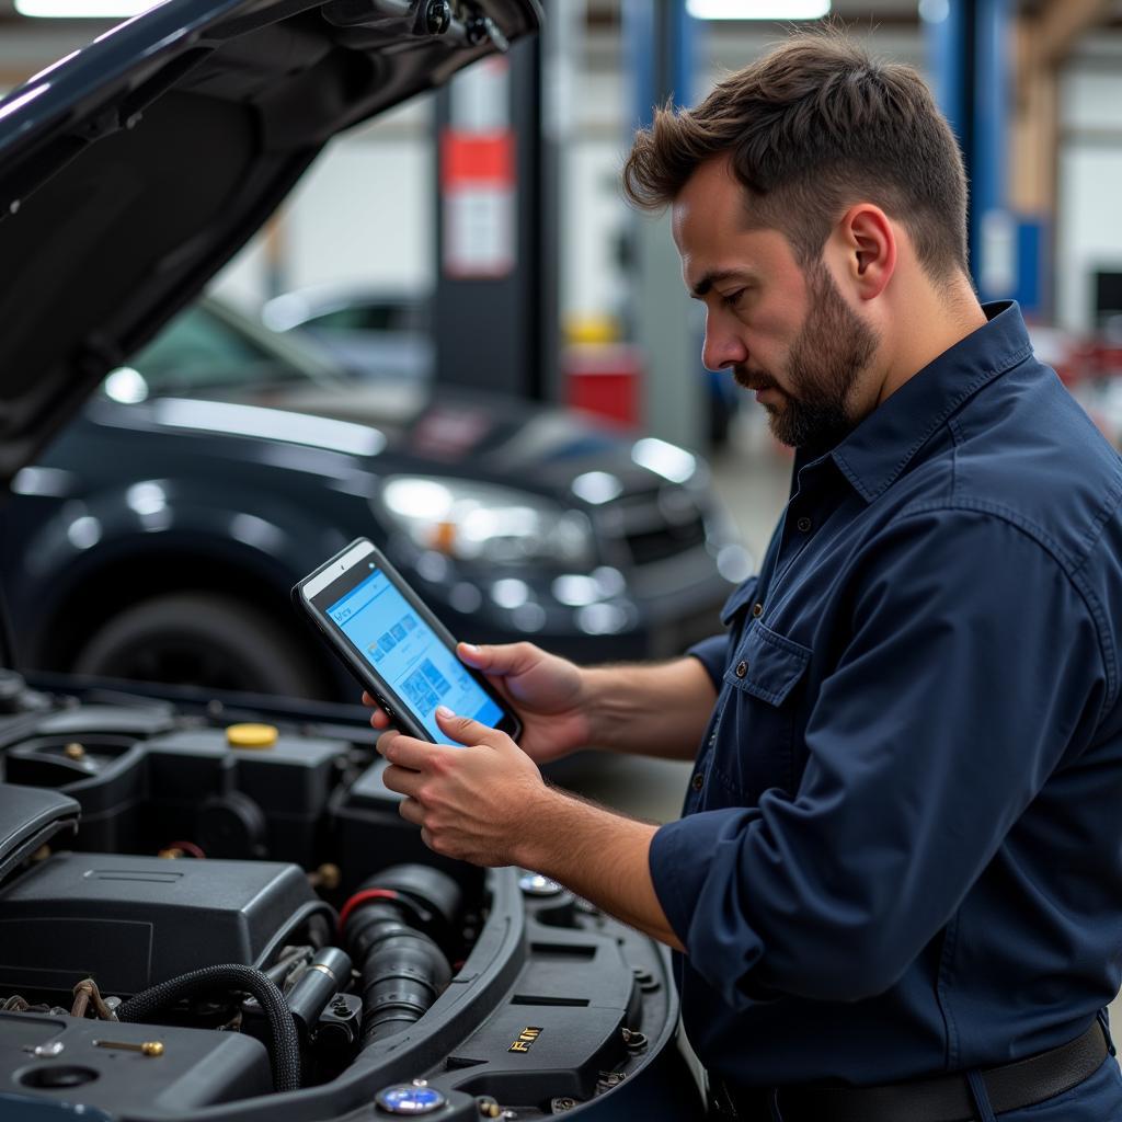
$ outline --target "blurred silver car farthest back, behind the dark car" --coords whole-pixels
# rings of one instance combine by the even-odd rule
[[[436,352],[429,309],[421,293],[328,286],[274,297],[261,321],[311,339],[364,377],[423,381]]]

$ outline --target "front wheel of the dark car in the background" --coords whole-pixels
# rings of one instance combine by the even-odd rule
[[[264,613],[204,592],[162,596],[117,613],[73,670],[289,697],[314,697],[321,681],[292,636]]]

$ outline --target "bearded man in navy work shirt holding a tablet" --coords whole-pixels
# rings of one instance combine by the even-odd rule
[[[521,749],[445,711],[469,749],[387,732],[387,787],[438,853],[679,951],[721,1116],[1122,1119],[1122,466],[1019,309],[980,306],[947,122],[911,68],[800,37],[660,111],[625,185],[671,208],[705,365],[795,447],[790,502],[726,636],[461,647]],[[681,820],[542,781],[588,745],[696,758]]]

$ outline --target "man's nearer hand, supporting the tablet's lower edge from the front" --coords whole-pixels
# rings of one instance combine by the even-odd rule
[[[384,733],[389,763],[383,782],[404,794],[401,815],[421,827],[425,845],[475,865],[513,865],[515,847],[535,828],[549,790],[533,761],[506,733],[441,706],[436,723],[456,748]]]

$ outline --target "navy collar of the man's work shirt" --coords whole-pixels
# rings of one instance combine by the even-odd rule
[[[1032,353],[1013,301],[986,304],[983,311],[983,327],[909,378],[829,453],[867,503],[900,477],[968,397]]]

